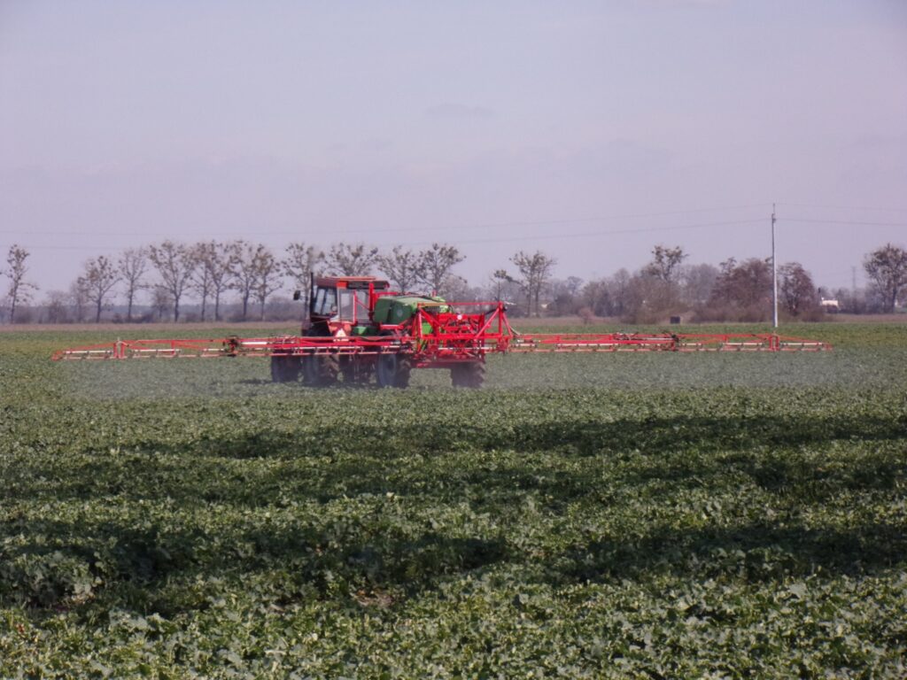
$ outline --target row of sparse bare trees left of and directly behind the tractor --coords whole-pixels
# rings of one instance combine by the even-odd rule
[[[31,302],[37,287],[26,279],[25,248],[13,246],[2,273],[9,277],[5,311],[16,322],[34,319]],[[38,321],[49,323],[100,322],[115,303],[125,307],[118,320],[185,320],[188,303],[192,320],[222,321],[225,298],[232,296],[231,321],[268,316],[268,303],[287,282],[307,290],[311,275],[368,276],[380,273],[402,291],[469,295],[466,282],[452,269],[463,261],[458,248],[434,243],[423,250],[396,246],[382,252],[363,243],[316,245],[290,243],[276,254],[261,243],[245,240],[185,244],[165,240],[141,248],[126,248],[118,257],[91,257],[66,291],[52,290],[40,306]],[[140,296],[147,305],[136,316]],[[284,300],[285,301],[285,300]],[[299,316],[298,307],[284,316]]]

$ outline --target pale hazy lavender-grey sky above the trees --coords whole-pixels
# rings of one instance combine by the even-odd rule
[[[907,2],[0,0],[0,248],[518,249],[556,275],[907,246]],[[858,268],[858,283],[862,273]]]

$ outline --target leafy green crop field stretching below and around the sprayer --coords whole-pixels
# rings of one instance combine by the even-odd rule
[[[0,677],[903,678],[907,326],[788,332],[479,392],[0,334]]]

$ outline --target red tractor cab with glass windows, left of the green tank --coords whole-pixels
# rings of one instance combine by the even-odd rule
[[[375,300],[389,287],[387,281],[375,277],[312,277],[308,325],[303,326],[303,333],[368,335]]]

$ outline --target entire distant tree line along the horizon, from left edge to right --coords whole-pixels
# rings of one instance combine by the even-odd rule
[[[619,317],[634,323],[660,323],[668,316],[688,321],[765,321],[771,316],[772,263],[730,257],[717,267],[688,264],[679,246],[657,245],[635,272],[619,269],[610,277],[583,281],[553,277],[557,261],[542,252],[514,253],[508,267],[495,269],[483,285],[471,287],[453,269],[465,256],[451,244],[416,250],[402,245],[381,250],[365,243],[335,243],[327,249],[290,243],[275,253],[246,240],[172,240],[126,248],[116,257],[91,257],[66,291],[52,290],[33,305],[38,287],[28,279],[27,249],[9,248],[5,267],[6,320],[47,323],[100,322],[105,313],[120,321],[285,320],[301,315],[278,296],[287,283],[307,290],[315,276],[387,278],[396,290],[441,295],[452,300],[505,300],[512,314],[525,316]],[[865,290],[826,290],[798,262],[778,267],[778,304],[783,314],[814,319],[822,299],[834,298],[842,311],[892,312],[907,291],[907,250],[886,244],[868,253]],[[145,304],[140,305],[140,296]],[[826,303],[827,304],[827,303]],[[114,306],[118,311],[112,313]],[[187,319],[186,309],[190,307]],[[141,308],[141,313],[137,310]]]

